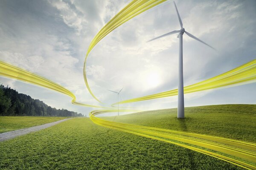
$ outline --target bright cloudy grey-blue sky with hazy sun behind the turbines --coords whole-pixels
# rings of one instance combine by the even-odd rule
[[[99,103],[83,80],[90,41],[130,0],[1,0],[0,60],[52,80],[72,91],[78,102]],[[217,49],[183,36],[184,86],[211,78],[256,58],[255,0],[176,0],[183,27]],[[123,24],[99,42],[87,60],[93,93],[109,106],[121,99],[177,88],[180,29],[175,6],[167,1]],[[55,108],[88,114],[93,108],[71,104],[69,96],[0,77],[3,85]],[[256,104],[255,82],[185,94],[185,106]],[[175,108],[177,96],[126,104]]]

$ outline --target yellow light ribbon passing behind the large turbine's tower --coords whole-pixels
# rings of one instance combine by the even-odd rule
[[[203,91],[212,88],[220,88],[226,85],[234,85],[241,82],[249,82],[256,80],[256,59],[253,59],[250,62],[247,62],[244,65],[241,65],[233,70],[227,71],[226,73],[220,74],[218,76],[212,77],[210,79],[204,80],[202,82],[195,83],[184,87],[184,93],[192,93],[196,91]],[[161,97],[175,96],[178,94],[178,89],[165,91],[158,94],[152,94],[148,96],[138,97],[134,99],[128,99],[119,102],[119,104],[138,102],[149,99],[157,99]],[[117,105],[114,103],[113,105]]]

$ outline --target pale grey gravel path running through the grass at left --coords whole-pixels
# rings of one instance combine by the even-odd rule
[[[69,119],[72,119],[72,118],[69,118]],[[17,136],[25,135],[27,133],[42,130],[47,127],[51,127],[53,125],[57,125],[58,123],[64,122],[66,120],[68,120],[68,119],[62,119],[62,120],[58,120],[56,122],[46,123],[44,125],[38,125],[38,126],[28,127],[25,129],[19,129],[19,130],[14,130],[14,131],[10,131],[10,132],[0,133],[0,142],[15,138]]]

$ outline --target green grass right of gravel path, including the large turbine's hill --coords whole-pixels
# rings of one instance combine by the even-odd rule
[[[216,105],[148,111],[104,119],[186,130],[250,142],[255,140],[256,105]],[[174,144],[111,130],[88,118],[0,142],[0,169],[174,169],[238,170],[233,164]]]

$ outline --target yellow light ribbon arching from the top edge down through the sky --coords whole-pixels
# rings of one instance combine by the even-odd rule
[[[160,3],[165,2],[166,0],[133,0],[131,3],[129,3],[125,8],[123,8],[116,16],[114,16],[93,38],[93,40],[90,42],[89,48],[86,53],[86,57],[84,60],[84,82],[85,85],[90,92],[90,94],[93,96],[94,99],[99,101],[97,97],[93,94],[93,92],[90,89],[90,86],[87,81],[86,77],[86,62],[87,57],[90,54],[90,51],[93,49],[93,47],[100,41],[102,38],[104,38],[106,35],[108,35],[111,31],[116,29],[117,27],[121,26],[123,23],[127,22],[128,20],[131,20],[132,18],[136,17],[137,15],[143,13],[144,11],[159,5]],[[99,101],[100,102],[100,101]]]

